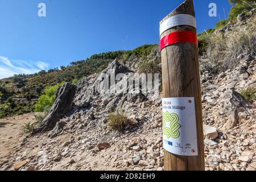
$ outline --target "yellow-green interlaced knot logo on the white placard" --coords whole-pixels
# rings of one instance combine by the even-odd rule
[[[180,131],[182,127],[179,123],[179,115],[175,113],[169,113],[168,111],[163,113],[163,133],[167,138],[179,138]],[[170,126],[167,126],[167,123],[170,123]]]

